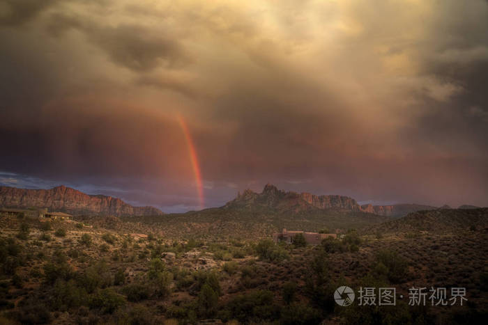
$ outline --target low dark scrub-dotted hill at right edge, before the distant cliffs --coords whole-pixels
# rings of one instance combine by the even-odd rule
[[[406,233],[428,231],[456,233],[470,228],[488,228],[488,208],[437,209],[411,213],[399,219],[364,228],[365,233]]]

